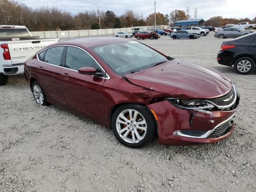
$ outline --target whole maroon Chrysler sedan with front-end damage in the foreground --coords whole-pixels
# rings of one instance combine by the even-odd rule
[[[234,130],[239,94],[222,73],[181,62],[125,38],[78,38],[24,63],[36,102],[54,104],[112,128],[138,148],[217,142]],[[57,117],[56,117],[57,118]]]

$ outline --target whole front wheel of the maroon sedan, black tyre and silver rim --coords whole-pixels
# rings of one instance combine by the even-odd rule
[[[146,106],[125,104],[114,112],[112,130],[123,145],[140,148],[154,139],[156,124]]]

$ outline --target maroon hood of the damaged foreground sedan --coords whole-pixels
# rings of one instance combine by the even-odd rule
[[[215,98],[232,88],[230,80],[217,70],[176,59],[126,78],[137,86],[182,99]]]

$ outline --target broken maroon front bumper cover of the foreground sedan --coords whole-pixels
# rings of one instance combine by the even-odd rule
[[[237,107],[230,111],[210,111],[212,116],[201,111],[177,108],[167,100],[150,104],[148,108],[154,110],[158,117],[160,144],[212,143],[228,137],[234,131],[232,118]],[[225,123],[229,123],[230,127],[225,129],[220,136],[214,137],[214,130],[219,131],[222,126],[226,125]],[[196,133],[196,136],[191,134],[193,132]],[[212,135],[213,137],[211,137]]]

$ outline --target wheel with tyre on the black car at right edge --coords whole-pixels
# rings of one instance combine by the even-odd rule
[[[251,73],[255,68],[255,62],[249,57],[242,57],[236,60],[234,63],[234,69],[239,74],[249,74]]]

